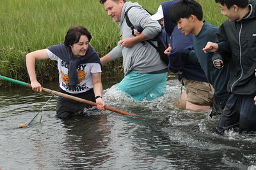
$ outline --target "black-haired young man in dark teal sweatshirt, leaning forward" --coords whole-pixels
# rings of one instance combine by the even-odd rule
[[[221,115],[223,108],[227,102],[228,94],[227,83],[229,80],[230,64],[228,60],[221,63],[223,69],[216,69],[212,64],[212,55],[214,53],[204,53],[202,48],[208,41],[215,41],[218,27],[203,21],[202,6],[193,0],[182,0],[175,4],[170,11],[170,19],[173,23],[177,23],[180,32],[185,35],[193,34],[193,52],[198,58],[208,81],[214,87],[213,109],[216,114]],[[223,53],[215,53],[216,58],[222,57]],[[216,59],[216,61],[220,62]]]

